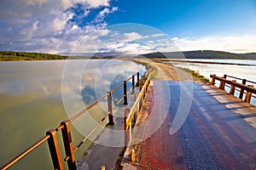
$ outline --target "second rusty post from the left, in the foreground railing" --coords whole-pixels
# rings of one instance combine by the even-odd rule
[[[76,167],[76,160],[73,152],[73,144],[72,144],[69,123],[70,123],[69,121],[61,122],[61,125],[64,126],[64,128],[61,129],[61,133],[62,133],[63,144],[66,152],[66,158],[64,159],[64,161],[67,161],[68,169],[73,170],[73,169],[77,169],[77,167]]]

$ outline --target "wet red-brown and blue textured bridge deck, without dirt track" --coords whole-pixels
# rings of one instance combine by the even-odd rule
[[[163,89],[166,87],[170,90],[169,94]],[[208,88],[212,91],[210,86]],[[208,93],[196,82],[183,82],[182,86],[180,82],[154,82],[154,98],[149,97],[154,106],[149,111],[147,131],[141,132],[150,138],[140,143],[140,157],[136,164],[126,164],[124,169],[255,170],[256,129],[244,120],[245,116],[226,107],[236,105],[239,108],[243,102],[233,100],[221,103],[215,99],[222,95],[225,94],[218,91]],[[183,99],[184,96],[193,96],[191,103],[189,99]],[[168,99],[170,107],[166,110],[165,101]],[[186,107],[189,107],[188,114],[183,113],[183,116],[176,118],[178,122],[185,119],[182,127],[171,134],[170,128],[177,111],[186,111]],[[252,111],[255,112],[247,117],[256,116],[255,107]],[[161,120],[161,126],[151,134],[156,122]]]

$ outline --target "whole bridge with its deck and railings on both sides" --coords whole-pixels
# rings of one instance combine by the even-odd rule
[[[113,153],[123,150],[123,146],[123,169],[256,169],[256,107],[250,104],[256,89],[246,84],[255,82],[227,75],[212,75],[211,84],[195,77],[187,81],[188,73],[182,71],[180,78],[180,70],[156,65],[166,75],[159,74],[154,81],[150,74],[143,78],[139,73],[132,75],[84,111],[50,129],[0,169],[12,167],[44,142],[49,144],[54,169],[112,169],[116,161]],[[143,86],[137,87],[140,82]],[[229,92],[224,91],[225,87]],[[119,88],[123,88],[123,95],[113,103],[113,93]],[[238,97],[234,96],[236,91]],[[108,112],[88,136],[73,146],[69,124],[103,99],[107,100]],[[92,144],[91,150],[100,151],[92,151],[89,157],[77,162],[74,152],[106,120],[107,128],[96,139],[104,141],[105,146]],[[56,138],[60,132],[66,150],[64,160],[61,141]]]

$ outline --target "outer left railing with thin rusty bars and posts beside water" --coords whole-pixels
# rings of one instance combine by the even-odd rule
[[[94,133],[99,127],[102,122],[108,117],[108,125],[113,125],[113,109],[115,109],[121,101],[123,101],[124,105],[127,105],[127,94],[131,90],[131,88],[135,88],[136,82],[135,82],[135,77],[137,76],[137,84],[139,84],[140,78],[139,78],[139,72],[136,74],[132,75],[129,77],[127,80],[119,84],[116,88],[113,88],[111,91],[109,91],[107,94],[102,96],[102,98],[97,99],[95,102],[87,106],[83,111],[80,111],[77,115],[73,116],[67,121],[61,122],[61,125],[59,127],[56,127],[55,129],[50,129],[44,138],[38,140],[35,144],[32,144],[28,149],[24,150],[22,153],[20,153],[19,156],[15,156],[15,158],[5,165],[3,167],[0,167],[1,170],[8,169],[9,167],[13,166],[17,161],[20,161],[23,157],[28,155],[29,153],[32,152],[32,150],[35,150],[38,148],[39,145],[43,144],[44,142],[48,141],[49,145],[49,152],[51,156],[51,160],[53,163],[54,169],[64,169],[63,161],[61,160],[61,151],[60,151],[60,146],[59,146],[59,141],[57,139],[57,133],[61,131],[62,134],[62,139],[63,139],[63,144],[66,152],[66,156],[64,158],[64,161],[67,161],[67,166],[68,169],[76,169],[76,160],[74,153],[79,150],[80,146],[84,144],[84,142],[90,137],[92,133]],[[131,88],[127,90],[127,82],[131,82]],[[116,91],[117,89],[124,87],[124,94],[122,97],[119,99],[119,101],[113,105],[113,92]],[[79,116],[82,116],[86,111],[89,111],[90,108],[101,102],[103,99],[108,99],[108,113],[102,117],[102,120],[100,122],[97,122],[96,127],[94,127],[90,133],[88,133],[87,136],[82,139],[79,144],[77,144],[75,147],[73,147],[73,142],[72,142],[72,136],[71,136],[71,129],[70,129],[70,123],[79,118]]]

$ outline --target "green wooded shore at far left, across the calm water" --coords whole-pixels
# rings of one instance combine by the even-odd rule
[[[57,54],[0,51],[0,61],[51,60],[51,59],[67,59],[67,58],[68,58],[67,56],[62,56]]]

